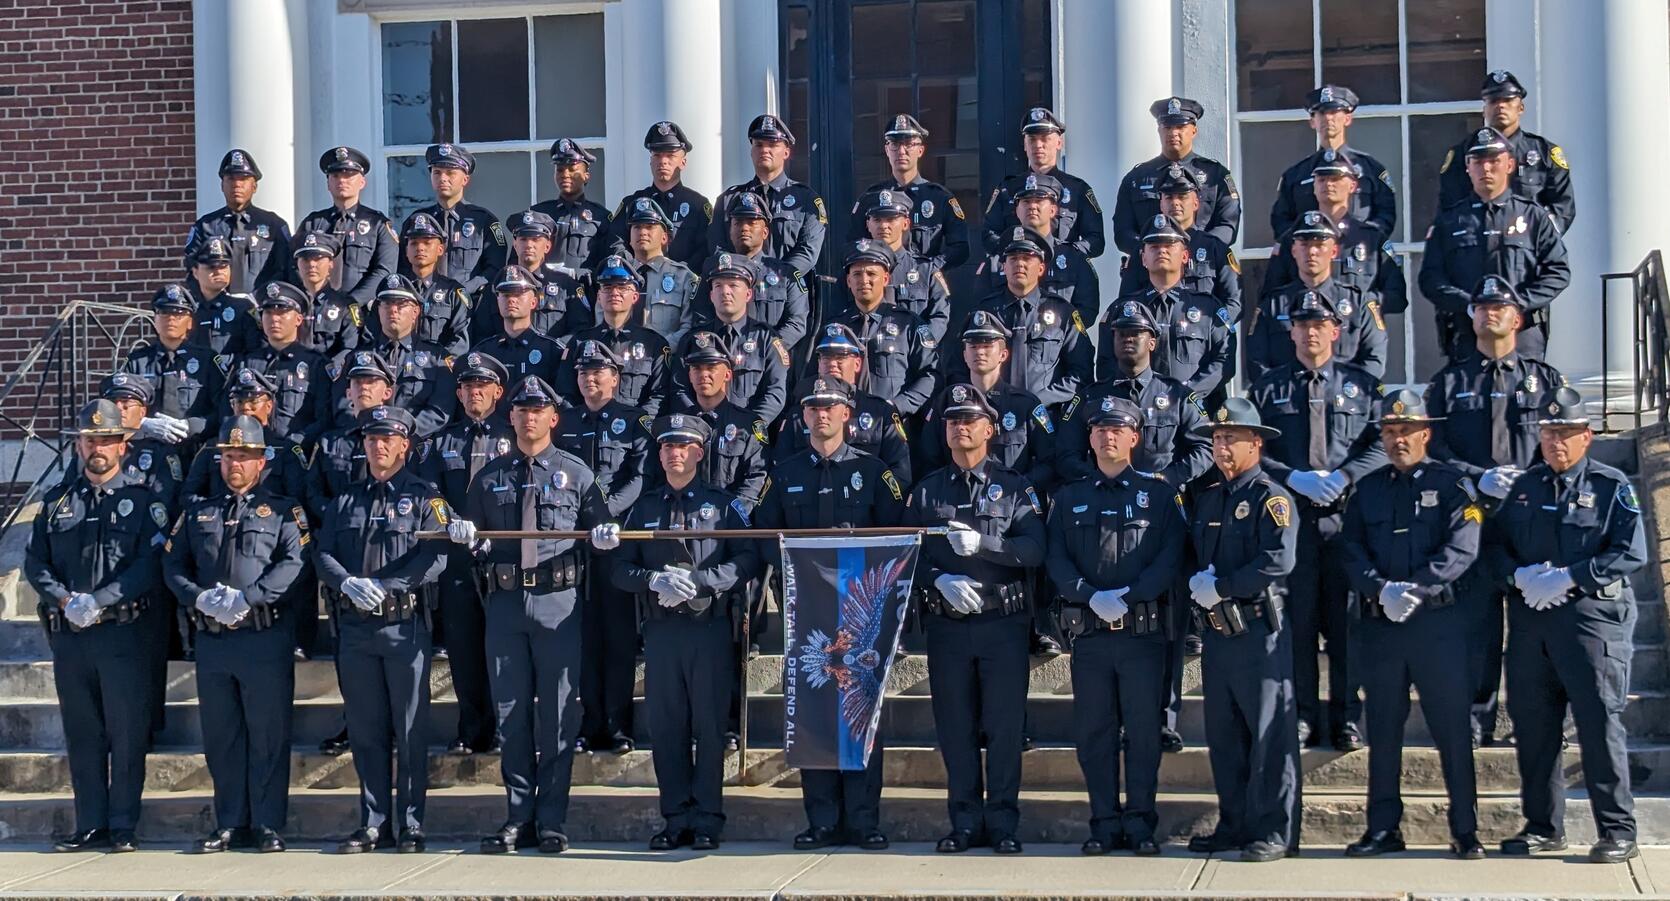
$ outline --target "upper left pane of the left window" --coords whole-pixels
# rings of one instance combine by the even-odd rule
[[[453,25],[382,25],[382,140],[453,140]]]

